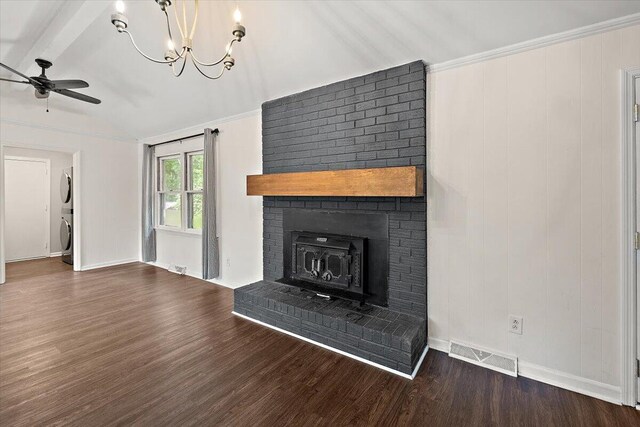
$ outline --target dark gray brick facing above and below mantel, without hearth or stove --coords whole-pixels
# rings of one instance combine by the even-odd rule
[[[263,173],[426,165],[426,70],[412,62],[262,105]],[[389,309],[426,318],[426,200],[265,197],[264,278],[282,277],[282,213],[389,214]]]

